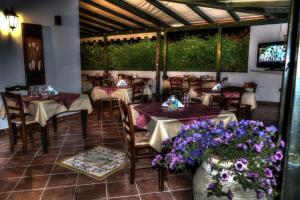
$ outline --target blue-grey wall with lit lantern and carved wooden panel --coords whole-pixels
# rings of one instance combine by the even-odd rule
[[[46,84],[58,91],[80,92],[79,1],[1,0],[0,12],[11,6],[21,21],[43,26]],[[61,26],[54,26],[55,15],[62,17]],[[25,84],[22,35],[0,30],[0,91],[16,84]],[[5,124],[0,120],[0,129]]]

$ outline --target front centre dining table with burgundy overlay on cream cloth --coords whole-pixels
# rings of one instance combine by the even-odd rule
[[[138,128],[149,130],[150,146],[157,152],[162,150],[162,142],[179,134],[184,124],[195,120],[223,121],[224,125],[237,121],[234,113],[210,108],[199,103],[190,103],[178,110],[169,110],[161,103],[130,105],[133,124]]]

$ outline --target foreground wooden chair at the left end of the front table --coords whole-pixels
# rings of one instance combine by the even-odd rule
[[[154,151],[149,145],[150,133],[146,130],[134,128],[130,105],[126,105],[121,101],[119,101],[119,105],[124,132],[125,152],[130,159],[130,182],[134,183],[135,171],[142,169],[136,168],[136,161],[143,158],[153,158]]]

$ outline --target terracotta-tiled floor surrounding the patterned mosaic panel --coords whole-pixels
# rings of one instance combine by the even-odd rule
[[[192,182],[183,174],[170,174],[165,191],[159,192],[157,171],[151,168],[137,170],[136,181],[130,184],[128,169],[98,181],[55,164],[97,145],[123,149],[121,130],[116,120],[97,121],[92,114],[84,141],[79,116],[73,115],[59,123],[57,134],[50,126],[51,147],[47,154],[41,149],[39,133],[35,134],[26,155],[20,146],[11,153],[7,135],[0,136],[0,200],[192,199]],[[145,163],[150,166],[150,160],[139,164]]]

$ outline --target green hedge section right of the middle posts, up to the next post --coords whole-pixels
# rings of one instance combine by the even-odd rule
[[[216,36],[185,36],[169,42],[169,71],[215,71]]]

